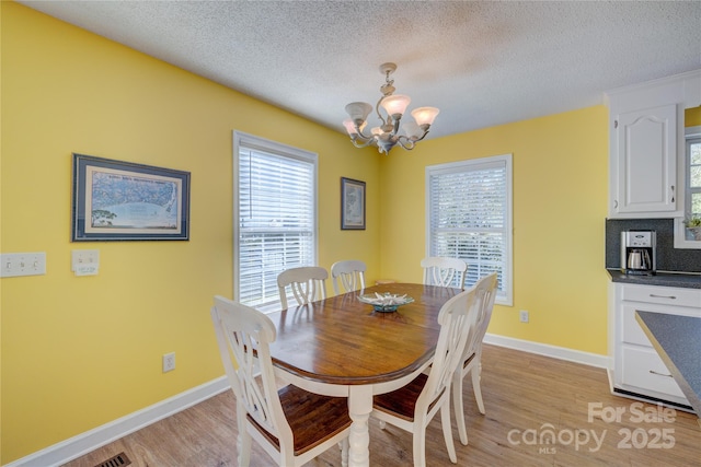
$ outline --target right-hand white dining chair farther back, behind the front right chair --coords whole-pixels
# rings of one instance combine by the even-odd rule
[[[472,390],[478,402],[480,413],[484,415],[484,401],[482,400],[482,387],[480,380],[482,374],[482,341],[486,328],[492,318],[492,308],[496,299],[497,285],[496,272],[483,277],[474,284],[474,308],[476,310],[476,326],[474,331],[468,337],[464,347],[462,364],[458,366],[452,381],[452,407],[456,411],[456,423],[460,442],[468,444],[468,432],[464,425],[464,412],[462,408],[462,381],[468,374],[472,375]]]

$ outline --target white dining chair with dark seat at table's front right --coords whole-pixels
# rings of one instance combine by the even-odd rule
[[[380,428],[387,422],[412,433],[415,467],[426,466],[426,427],[439,409],[448,455],[453,464],[458,462],[450,425],[450,384],[476,324],[473,302],[474,289],[469,289],[440,308],[440,334],[427,373],[400,389],[372,398],[371,416],[380,420]]]

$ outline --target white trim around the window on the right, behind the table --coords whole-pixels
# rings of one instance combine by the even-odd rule
[[[498,305],[514,306],[514,168],[513,168],[513,154],[501,154],[479,159],[468,159],[457,162],[448,162],[445,164],[427,165],[426,178],[425,178],[425,192],[426,192],[426,256],[430,256],[432,244],[432,224],[430,224],[430,177],[440,174],[468,172],[479,170],[480,166],[487,167],[490,165],[504,164],[506,168],[506,220],[504,230],[506,232],[506,245],[505,256],[506,265],[502,271],[507,284],[506,289],[502,293],[497,293],[495,303]]]

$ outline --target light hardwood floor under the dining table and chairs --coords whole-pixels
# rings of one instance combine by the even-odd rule
[[[482,364],[485,416],[478,411],[469,378],[463,386],[467,446],[452,423],[459,466],[701,466],[697,417],[612,396],[605,370],[494,346],[484,347]],[[228,390],[66,467],[94,467],[122,452],[138,467],[237,466],[234,407]],[[554,433],[553,444],[540,442],[548,432]],[[453,466],[440,417],[426,436],[427,465]],[[253,443],[251,466],[271,465]],[[308,464],[340,465],[334,448]],[[389,425],[380,430],[370,419],[370,465],[411,466],[411,435]]]

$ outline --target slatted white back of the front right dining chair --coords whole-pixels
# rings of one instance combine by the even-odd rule
[[[416,405],[430,404],[440,397],[449,387],[458,366],[462,363],[462,354],[468,337],[476,326],[478,313],[474,307],[475,289],[470,288],[447,301],[438,313],[440,334],[436,345],[436,353],[430,365],[426,386]]]

